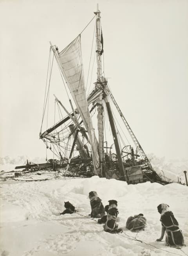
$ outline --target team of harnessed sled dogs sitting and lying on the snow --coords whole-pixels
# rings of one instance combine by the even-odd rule
[[[118,228],[117,224],[117,216],[119,212],[117,209],[116,200],[109,200],[109,204],[104,207],[102,200],[99,198],[96,191],[89,192],[89,200],[91,206],[91,213],[89,214],[89,216],[91,218],[98,218],[98,223],[104,224],[104,231],[110,233],[123,232],[122,229]],[[60,214],[71,214],[77,212],[75,207],[69,202],[65,202],[65,208],[66,210],[61,212]],[[169,210],[169,205],[161,203],[157,206],[157,210],[161,214],[160,221],[162,224],[162,229],[161,237],[156,241],[161,241],[164,237],[164,234],[166,233],[166,245],[178,249],[185,246],[183,233],[179,229],[179,224],[174,217],[173,212]],[[146,218],[143,216],[142,213],[130,216],[127,219],[126,227],[133,232],[139,232],[141,230],[144,230],[144,228],[146,227]]]

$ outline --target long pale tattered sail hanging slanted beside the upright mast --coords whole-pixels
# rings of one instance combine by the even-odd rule
[[[89,113],[88,102],[86,98],[86,91],[83,77],[83,63],[81,56],[81,40],[80,35],[76,37],[71,44],[69,44],[63,51],[58,53],[61,66],[63,68],[63,75],[72,94],[72,98],[81,115],[85,129],[89,133],[89,139],[92,150],[92,158],[94,164],[94,172],[98,174],[99,154],[98,141],[96,139],[92,120]]]

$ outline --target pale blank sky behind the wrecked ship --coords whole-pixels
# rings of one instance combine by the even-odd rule
[[[146,154],[188,159],[188,1],[98,2],[105,76],[138,141]],[[96,4],[0,0],[0,156],[45,156],[39,132],[49,41],[65,48]],[[85,81],[93,31],[94,22],[82,34]],[[65,99],[63,85],[57,96]]]

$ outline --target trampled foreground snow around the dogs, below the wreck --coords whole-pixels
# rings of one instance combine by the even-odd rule
[[[49,174],[41,176],[46,178]],[[19,178],[0,182],[1,256],[188,254],[188,247],[183,247],[181,251],[166,247],[164,239],[156,241],[161,234],[157,205],[168,203],[183,231],[185,244],[188,245],[187,186],[178,183],[163,186],[150,182],[127,185],[123,181],[98,176],[51,178],[36,182],[20,181]],[[117,200],[119,227],[123,233],[104,232],[103,225],[88,216],[88,194],[92,190],[98,192],[103,205],[108,204],[108,200]],[[60,215],[65,209],[64,201],[71,202],[78,213]],[[143,213],[147,219],[145,231],[135,233],[127,230],[127,218],[139,213]],[[132,240],[135,237],[143,243]]]

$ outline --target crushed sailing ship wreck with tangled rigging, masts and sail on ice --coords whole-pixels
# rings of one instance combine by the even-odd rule
[[[143,148],[128,125],[110,90],[108,80],[104,76],[104,70],[102,70],[103,33],[99,9],[94,14],[96,18],[96,48],[94,54],[96,55],[97,64],[94,89],[87,95],[81,55],[81,33],[83,31],[62,51],[59,51],[58,47],[50,42],[47,75],[49,86],[55,57],[63,81],[62,87],[64,85],[67,94],[63,95],[63,103],[54,95],[55,109],[58,109],[60,120],[58,122],[54,121],[50,128],[42,132],[44,116],[49,109],[47,107],[49,86],[46,87],[40,139],[43,140],[46,148],[52,151],[53,159],[36,166],[27,163],[25,168],[27,171],[31,168],[38,170],[51,168],[54,171],[61,172],[64,176],[70,174],[77,176],[98,175],[108,179],[115,178],[127,181],[129,184],[146,181],[165,184],[165,181],[154,171]],[[68,94],[68,89],[71,95]],[[71,112],[64,105],[65,95],[69,98]],[[62,95],[60,97],[62,98]],[[121,135],[117,129],[112,105],[114,105],[123,125],[125,125],[124,127],[127,129],[133,145],[123,142],[123,147],[121,147]],[[97,116],[94,112],[97,112]],[[97,129],[94,129],[94,116],[97,119]],[[107,128],[105,122],[107,122],[107,119],[110,123],[110,132],[113,138],[110,147],[108,146],[108,139],[105,139],[105,129]]]

